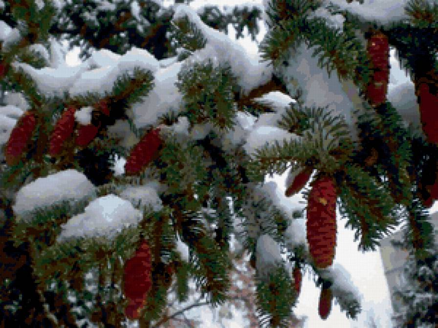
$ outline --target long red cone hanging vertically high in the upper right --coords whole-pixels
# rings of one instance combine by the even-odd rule
[[[368,40],[367,53],[370,57],[373,74],[367,86],[367,96],[373,106],[386,101],[389,82],[389,43],[381,32],[374,33]]]

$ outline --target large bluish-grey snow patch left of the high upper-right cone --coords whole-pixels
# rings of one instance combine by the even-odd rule
[[[291,93],[296,92],[296,87],[303,91],[304,106],[327,107],[332,117],[344,117],[350,129],[353,140],[357,140],[357,118],[353,114],[359,106],[359,90],[351,82],[339,82],[337,72],[333,70],[328,77],[327,69],[318,66],[319,56],[312,57],[314,47],[307,48],[305,43],[292,53],[288,66],[281,66],[279,74],[285,81],[291,81],[288,88]]]

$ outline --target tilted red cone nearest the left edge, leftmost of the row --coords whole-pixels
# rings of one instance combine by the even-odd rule
[[[8,165],[16,164],[22,155],[24,148],[35,130],[36,119],[33,112],[26,112],[18,120],[11,131],[8,143],[5,147],[5,159]]]

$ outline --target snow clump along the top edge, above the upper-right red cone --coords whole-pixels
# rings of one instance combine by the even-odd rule
[[[363,4],[359,1],[348,3],[346,0],[326,0],[327,4],[330,2],[365,21],[377,21],[382,25],[409,18],[404,9],[408,0],[364,0]]]

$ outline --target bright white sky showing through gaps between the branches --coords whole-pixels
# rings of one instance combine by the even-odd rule
[[[248,2],[262,2],[248,1]],[[201,4],[205,3],[217,3],[220,5],[232,5],[235,4],[235,0],[216,0],[205,1],[195,0],[191,3],[191,6],[197,8]],[[261,33],[257,37],[257,41],[263,39],[266,29],[263,24]],[[235,31],[231,25],[228,26],[228,35],[230,38],[235,38]],[[244,30],[244,38],[239,39],[241,45],[247,49],[248,52],[256,54],[257,44],[251,41],[250,36],[247,33],[247,29]],[[74,66],[80,63],[78,59],[79,48],[75,48],[66,54],[66,62],[70,66]],[[394,57],[394,49],[391,51],[391,75],[389,88],[393,88],[397,84],[408,81],[408,77]],[[285,191],[285,175],[283,177],[274,177],[273,180],[280,187],[282,193]],[[433,213],[438,210],[438,202],[430,209]],[[301,294],[298,299],[298,304],[294,309],[295,314],[298,317],[306,316],[307,321],[306,328],[366,328],[367,317],[372,314],[377,327],[390,328],[390,312],[391,303],[389,298],[388,285],[384,276],[382,261],[380,252],[359,252],[357,250],[358,243],[353,242],[354,232],[344,227],[345,220],[341,220],[338,215],[338,235],[336,256],[334,262],[338,262],[350,273],[351,279],[356,287],[359,288],[360,293],[363,296],[362,308],[363,311],[359,315],[357,321],[347,319],[345,313],[340,311],[339,305],[332,305],[332,310],[327,320],[321,320],[318,314],[318,302],[320,290],[315,287],[315,284],[308,275],[304,276]],[[206,328],[215,328],[211,323],[212,312],[201,310],[202,316],[204,316],[204,322]],[[230,328],[240,327],[238,323],[228,322]]]

